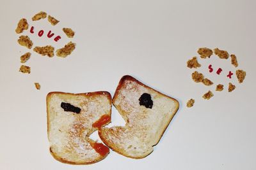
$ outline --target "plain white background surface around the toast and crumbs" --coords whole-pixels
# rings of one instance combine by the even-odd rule
[[[0,169],[256,169],[255,6],[256,1],[1,1]],[[32,22],[39,11],[60,23]],[[44,29],[41,38],[24,32],[34,46],[60,48],[70,41],[62,27],[71,27],[76,50],[61,59],[19,46],[15,28],[20,18],[27,18],[37,31]],[[60,41],[47,38],[49,30],[61,35]],[[237,68],[246,71],[244,83],[226,77],[236,71],[230,59],[200,59],[196,51],[204,46],[236,54]],[[19,72],[25,52],[32,53],[26,62],[31,74]],[[215,85],[194,83],[194,70],[186,67],[193,56],[202,64],[198,71],[215,85],[227,88],[232,82],[236,90],[216,92]],[[215,73],[218,67],[223,69],[220,76]],[[107,90],[113,95],[125,74],[180,102],[154,152],[136,160],[111,151],[88,166],[54,160],[47,140],[47,93]],[[209,101],[202,99],[207,90],[214,93]],[[190,98],[195,106],[186,108]],[[112,122],[123,124],[115,108]]]

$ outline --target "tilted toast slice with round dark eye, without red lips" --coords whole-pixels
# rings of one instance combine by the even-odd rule
[[[153,146],[157,145],[179,109],[177,100],[131,76],[121,78],[113,105],[126,124],[124,127],[102,127],[99,129],[100,139],[115,152],[134,159],[153,152]]]

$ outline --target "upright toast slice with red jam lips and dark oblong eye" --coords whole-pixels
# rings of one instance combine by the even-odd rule
[[[111,94],[90,92],[47,95],[47,132],[52,156],[67,164],[93,164],[109,148],[89,138],[111,120]]]

